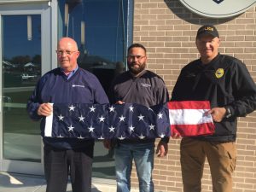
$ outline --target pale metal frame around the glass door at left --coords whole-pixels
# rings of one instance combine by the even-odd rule
[[[22,1],[20,1],[22,2]],[[55,2],[55,1],[54,1]],[[41,55],[42,75],[48,72],[51,68],[55,67],[52,65],[55,56],[52,55],[54,52],[52,48],[55,41],[53,34],[56,34],[57,29],[52,30],[53,23],[52,18],[52,4],[56,6],[56,3],[44,2],[44,3],[19,3],[19,4],[0,4],[0,42],[2,42],[2,16],[5,15],[41,15]],[[56,18],[55,18],[56,20]],[[0,46],[0,73],[2,74],[2,46]],[[19,160],[3,160],[3,82],[0,79],[0,171],[3,172],[17,172],[24,174],[33,175],[44,175],[44,150],[43,142],[41,139],[41,162],[29,162]],[[29,118],[29,117],[28,117]],[[39,129],[39,127],[38,127]]]

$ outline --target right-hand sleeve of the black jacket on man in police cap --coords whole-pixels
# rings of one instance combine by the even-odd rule
[[[235,101],[228,104],[232,115],[244,117],[256,109],[256,85],[241,61],[237,61],[232,77],[233,95]]]

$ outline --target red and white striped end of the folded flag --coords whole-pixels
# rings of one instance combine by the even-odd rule
[[[168,102],[172,136],[182,137],[212,135],[215,130],[208,101]]]

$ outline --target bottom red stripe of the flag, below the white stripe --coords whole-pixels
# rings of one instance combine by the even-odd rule
[[[212,135],[214,130],[213,123],[199,125],[171,125],[172,136],[176,133],[182,137]]]

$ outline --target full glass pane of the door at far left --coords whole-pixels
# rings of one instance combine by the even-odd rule
[[[41,15],[2,17],[3,158],[41,161],[39,122],[26,102],[41,77]]]

